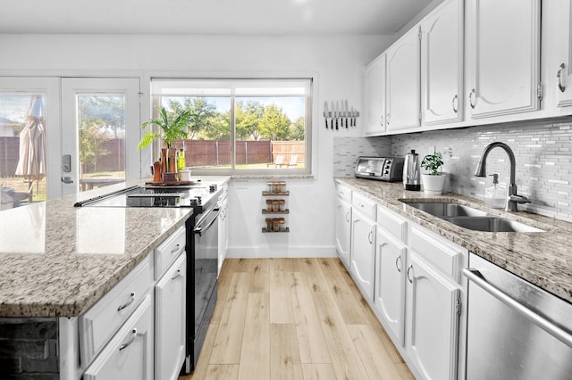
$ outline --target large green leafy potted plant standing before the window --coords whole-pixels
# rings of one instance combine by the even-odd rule
[[[163,146],[161,148],[162,171],[176,172],[177,165],[175,162],[175,140],[185,138],[188,132],[189,120],[191,113],[189,110],[183,110],[179,114],[169,117],[167,111],[162,108],[157,108],[159,117],[157,119],[148,120],[141,124],[141,128],[147,128],[152,125],[158,126],[161,130],[156,132],[149,130],[139,141],[137,149],[141,150],[147,145],[153,143],[157,138],[161,138]]]

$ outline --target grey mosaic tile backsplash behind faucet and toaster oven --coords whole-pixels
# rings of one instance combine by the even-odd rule
[[[365,147],[373,150],[371,154],[395,156],[405,156],[415,149],[421,157],[433,151],[449,150],[450,154],[444,154],[442,170],[450,173],[451,191],[482,199],[484,188],[492,185],[492,177],[477,178],[473,173],[484,147],[495,141],[509,145],[515,153],[518,194],[532,201],[519,204],[518,208],[572,221],[572,118],[397,136],[336,137],[333,143],[334,176],[352,176],[357,156],[362,155],[360,152]],[[508,186],[509,156],[504,150],[492,149],[486,168],[487,175],[498,173],[501,186]]]

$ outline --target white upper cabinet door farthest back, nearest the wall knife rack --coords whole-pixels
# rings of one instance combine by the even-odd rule
[[[385,132],[385,54],[366,67],[366,135]]]

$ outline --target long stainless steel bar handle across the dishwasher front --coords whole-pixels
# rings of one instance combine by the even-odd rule
[[[534,325],[539,326],[560,342],[572,347],[572,335],[570,335],[568,331],[555,325],[551,320],[536,314],[533,310],[528,309],[525,305],[510,297],[507,293],[502,292],[501,289],[489,283],[477,269],[463,268],[463,275],[465,275],[467,279],[473,281],[475,285],[480,286],[485,292],[490,293],[496,299],[509,306],[510,309],[517,311],[518,314],[534,323]]]

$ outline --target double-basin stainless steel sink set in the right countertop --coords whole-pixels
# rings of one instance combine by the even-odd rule
[[[403,202],[403,201],[401,201]],[[542,229],[528,226],[498,216],[488,214],[464,204],[453,202],[404,202],[417,210],[425,211],[434,217],[446,220],[458,227],[484,232],[543,232]]]

